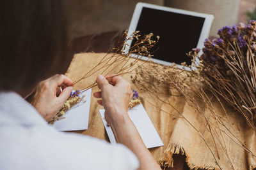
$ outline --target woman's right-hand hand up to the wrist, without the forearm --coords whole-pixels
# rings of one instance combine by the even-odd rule
[[[113,126],[129,119],[128,105],[132,97],[131,85],[121,76],[109,75],[106,78],[97,76],[101,92],[95,92],[94,97],[102,98],[98,103],[104,106],[105,119]]]

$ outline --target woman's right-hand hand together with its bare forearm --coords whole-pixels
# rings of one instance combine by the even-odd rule
[[[110,125],[115,139],[135,153],[140,160],[140,169],[159,169],[154,157],[144,145],[139,132],[132,123],[127,113],[128,105],[132,97],[131,85],[121,76],[97,77],[97,83],[101,92],[95,92],[94,97],[102,98],[98,103],[104,106],[105,118]]]

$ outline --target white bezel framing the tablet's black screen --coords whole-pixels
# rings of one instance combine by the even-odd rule
[[[152,9],[156,9],[156,10],[171,11],[171,12],[174,12],[174,13],[180,13],[180,14],[184,14],[184,15],[191,15],[191,16],[195,16],[195,17],[205,18],[204,25],[202,27],[200,38],[198,40],[198,44],[197,44],[196,48],[202,49],[204,47],[204,40],[206,38],[208,38],[209,32],[211,30],[212,21],[214,19],[213,15],[209,15],[209,14],[205,14],[205,13],[197,13],[197,12],[193,12],[193,11],[179,10],[179,9],[175,9],[175,8],[165,7],[165,6],[158,6],[158,5],[155,5],[155,4],[147,4],[147,3],[137,3],[136,4],[136,8],[135,8],[134,13],[132,15],[131,24],[130,24],[128,32],[127,32],[128,37],[130,37],[133,32],[137,31],[136,27],[137,27],[138,22],[140,20],[140,15],[141,15],[141,11],[142,11],[143,7],[152,8]],[[152,32],[152,33],[154,33],[154,32]],[[125,52],[124,53],[129,52],[129,48],[131,46],[131,43],[132,43],[132,40],[127,41],[127,46],[125,47]],[[132,54],[131,57],[138,57],[138,55]],[[149,58],[145,57],[145,56],[140,56],[140,59],[148,60]],[[174,64],[173,62],[167,62],[167,61],[164,61],[164,60],[159,60],[159,59],[154,59],[154,58],[152,58],[151,60],[153,62],[163,64],[163,65],[166,65],[166,66],[173,66],[173,64]],[[181,69],[188,69],[189,70],[188,67],[184,67],[184,66],[181,66],[179,64],[175,64],[175,66],[177,66]]]

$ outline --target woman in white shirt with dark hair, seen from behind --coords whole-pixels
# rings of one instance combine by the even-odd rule
[[[160,169],[127,115],[132,92],[120,76],[99,75],[101,91],[93,94],[120,144],[58,132],[47,124],[73,89],[66,76],[52,76],[60,71],[67,47],[61,3],[1,3],[0,169]],[[29,104],[24,97],[35,87]]]

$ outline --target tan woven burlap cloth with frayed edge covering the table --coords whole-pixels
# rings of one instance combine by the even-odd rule
[[[79,80],[96,66],[104,55],[106,53],[77,53],[66,75],[74,81]],[[117,69],[118,67],[113,69],[112,73]],[[100,71],[79,81],[75,89],[88,87],[95,82],[98,74]],[[150,148],[159,164],[172,166],[173,154],[181,153],[186,155],[186,162],[191,169],[243,170],[256,167],[256,158],[244,149],[256,153],[255,133],[227,103],[211,98],[212,108],[218,113],[217,116],[212,116],[212,111],[203,105],[200,106],[202,112],[198,113],[182,96],[168,97],[167,100],[172,103],[170,106],[137,89],[138,87],[132,84],[131,75],[126,74],[123,77],[131,83],[132,89],[138,90],[143,97],[142,104],[164,143],[164,146]],[[92,92],[97,91],[98,87],[93,87]],[[99,114],[101,108],[97,99],[92,97],[88,130],[77,132],[109,141]],[[216,120],[220,120],[221,124]]]

